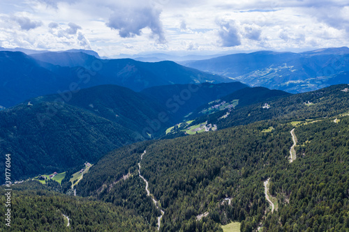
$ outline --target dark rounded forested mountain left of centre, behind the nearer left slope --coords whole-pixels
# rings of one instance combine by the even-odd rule
[[[172,114],[167,113],[164,105],[161,105],[142,93],[137,93],[129,88],[115,85],[101,85],[91,88],[84,88],[80,91],[66,92],[55,95],[45,95],[31,99],[30,102],[36,105],[40,102],[63,101],[66,105],[79,107],[91,114],[106,118],[108,121],[119,123],[129,130],[149,137],[150,134],[158,133],[160,130],[173,123]],[[161,127],[150,132],[146,128],[151,127],[151,122],[158,120],[159,114],[165,112],[167,121],[161,122]],[[153,134],[153,136],[155,136]]]

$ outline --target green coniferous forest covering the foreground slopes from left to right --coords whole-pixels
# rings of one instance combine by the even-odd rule
[[[230,222],[240,222],[240,231],[348,231],[349,105],[342,88],[272,98],[270,109],[253,103],[216,120],[218,112],[209,120],[221,130],[113,150],[84,174],[77,196],[66,195],[76,170],[61,185],[14,185],[12,229],[156,231],[163,210],[160,231],[223,231]]]

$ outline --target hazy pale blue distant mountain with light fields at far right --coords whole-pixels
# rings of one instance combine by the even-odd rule
[[[327,48],[302,53],[263,51],[181,63],[251,86],[302,93],[348,84],[349,49]]]

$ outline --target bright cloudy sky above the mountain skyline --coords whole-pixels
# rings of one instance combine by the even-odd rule
[[[1,0],[0,47],[101,56],[349,46],[348,0]]]

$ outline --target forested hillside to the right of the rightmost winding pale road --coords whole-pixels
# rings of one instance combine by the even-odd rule
[[[349,117],[297,127],[297,160],[272,173],[279,210],[263,231],[349,230]]]

